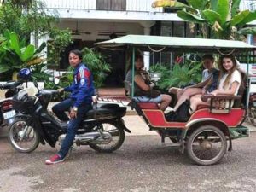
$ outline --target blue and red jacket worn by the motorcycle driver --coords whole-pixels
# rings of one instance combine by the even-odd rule
[[[80,63],[73,72],[73,84],[64,88],[65,91],[72,92],[71,98],[75,101],[73,107],[79,108],[82,104],[91,104],[95,90],[93,78],[90,70]]]

